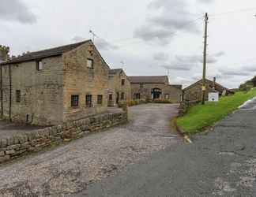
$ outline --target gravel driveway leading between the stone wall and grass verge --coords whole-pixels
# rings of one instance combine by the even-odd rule
[[[178,105],[131,107],[130,123],[0,167],[0,196],[65,196],[181,140],[171,133]],[[172,146],[171,146],[172,147]]]

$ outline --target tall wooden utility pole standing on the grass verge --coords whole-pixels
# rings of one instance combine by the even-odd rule
[[[207,33],[208,33],[208,13],[205,13],[205,42],[204,42],[204,61],[203,61],[203,76],[202,76],[202,87],[201,87],[201,104],[205,105],[205,78],[206,78],[206,56],[207,56]]]

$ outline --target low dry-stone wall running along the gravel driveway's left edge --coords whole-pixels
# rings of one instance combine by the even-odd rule
[[[79,121],[66,122],[63,125],[39,129],[35,132],[0,138],[0,163],[18,158],[24,154],[41,151],[45,147],[78,139],[91,132],[124,124],[127,113],[106,113],[88,117]]]

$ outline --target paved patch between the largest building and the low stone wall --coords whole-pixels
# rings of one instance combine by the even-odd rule
[[[26,132],[33,132],[39,128],[43,127],[33,125],[19,125],[17,123],[0,120],[0,137],[6,138]]]

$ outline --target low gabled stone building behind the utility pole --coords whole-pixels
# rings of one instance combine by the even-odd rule
[[[224,87],[216,83],[216,79],[207,80],[206,79],[206,96],[205,100],[208,100],[209,92],[217,91],[219,95],[231,95],[233,91],[229,90],[227,87]],[[194,84],[191,84],[189,87],[183,89],[183,99],[190,102],[201,101],[202,98],[202,80],[198,80]]]

